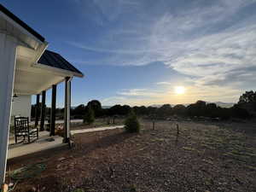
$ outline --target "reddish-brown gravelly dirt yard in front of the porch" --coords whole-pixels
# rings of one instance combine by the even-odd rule
[[[256,191],[255,123],[161,121],[155,130],[151,122],[142,125],[139,134],[79,134],[72,149],[9,160],[12,170],[46,164],[15,192]]]

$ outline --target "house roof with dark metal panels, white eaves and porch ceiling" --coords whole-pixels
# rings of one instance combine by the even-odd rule
[[[47,50],[48,43],[38,32],[0,4],[0,32],[18,40],[14,93],[35,95],[59,84],[66,77],[84,77],[61,55]]]

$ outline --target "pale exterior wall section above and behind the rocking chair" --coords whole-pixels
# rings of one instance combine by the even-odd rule
[[[11,117],[12,123],[15,116],[29,117],[31,116],[31,96],[19,96],[13,98]]]

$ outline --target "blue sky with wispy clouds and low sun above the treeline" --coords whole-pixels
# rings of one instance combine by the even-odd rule
[[[255,90],[256,0],[0,2],[84,73],[73,106],[237,102]]]

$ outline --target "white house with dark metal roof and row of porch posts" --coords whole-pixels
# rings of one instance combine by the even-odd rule
[[[38,103],[42,95],[43,105],[38,110],[42,112],[40,129],[44,129],[45,92],[52,89],[50,132],[54,134],[56,86],[65,82],[63,141],[69,142],[71,81],[84,75],[47,47],[42,35],[0,4],[0,184],[6,170],[12,104],[13,113],[30,116],[31,96],[37,95]]]

